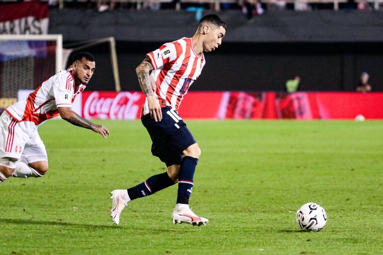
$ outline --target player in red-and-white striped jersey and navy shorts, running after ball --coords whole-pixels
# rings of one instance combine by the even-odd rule
[[[201,74],[205,65],[203,52],[218,48],[225,33],[226,25],[217,15],[206,15],[201,18],[193,37],[165,43],[149,52],[136,68],[139,84],[146,95],[141,121],[153,142],[153,156],[159,157],[168,170],[134,187],[113,190],[111,217],[114,224],[119,224],[120,214],[129,201],[154,194],[177,182],[173,223],[200,226],[208,222],[189,207],[201,150],[177,110],[189,87]]]

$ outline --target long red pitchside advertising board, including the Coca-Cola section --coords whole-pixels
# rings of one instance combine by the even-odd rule
[[[140,117],[142,92],[84,91],[85,118]],[[383,119],[383,93],[357,92],[189,92],[179,114],[186,119]]]

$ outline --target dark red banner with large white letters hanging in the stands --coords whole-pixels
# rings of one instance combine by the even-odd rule
[[[2,4],[0,34],[47,34],[48,4],[27,1]]]

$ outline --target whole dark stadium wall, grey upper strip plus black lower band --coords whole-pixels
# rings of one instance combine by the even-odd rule
[[[184,11],[53,11],[50,33],[61,31],[66,42],[117,39],[123,90],[139,90],[135,67],[147,52],[191,36],[197,26],[193,13]],[[227,35],[218,51],[205,54],[192,90],[283,90],[298,75],[301,90],[352,91],[368,72],[373,89],[383,91],[383,12],[270,12],[250,21],[238,11],[218,14]],[[113,90],[108,45],[87,51],[97,59],[89,88]]]

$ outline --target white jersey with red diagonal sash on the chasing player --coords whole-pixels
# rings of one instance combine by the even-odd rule
[[[5,111],[17,121],[31,121],[35,125],[58,117],[58,107],[72,107],[76,96],[86,88],[81,84],[75,91],[71,71],[61,71],[43,82],[23,100],[9,106]]]

